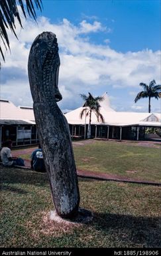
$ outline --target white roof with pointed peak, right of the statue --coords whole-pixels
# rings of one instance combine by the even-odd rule
[[[109,103],[107,93],[103,94],[104,100],[100,102],[100,112],[105,120],[105,125],[111,126],[161,126],[161,114],[158,113],[141,113],[141,112],[116,112]],[[69,124],[88,124],[89,116],[80,118],[80,112],[85,107],[76,108],[65,114]],[[91,124],[101,124],[92,112]]]

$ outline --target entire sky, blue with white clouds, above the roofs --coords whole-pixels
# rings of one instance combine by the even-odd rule
[[[160,5],[157,0],[42,1],[37,24],[17,24],[19,41],[9,33],[11,54],[1,69],[1,98],[32,106],[27,75],[30,45],[42,31],[52,31],[60,49],[59,87],[63,111],[82,104],[80,94],[109,95],[117,111],[148,111],[148,99],[134,98],[140,82],[160,82]],[[152,112],[160,112],[152,100]]]

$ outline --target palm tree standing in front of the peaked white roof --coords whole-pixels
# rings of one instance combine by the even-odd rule
[[[83,118],[83,115],[89,116],[89,124],[88,124],[88,129],[87,129],[87,138],[91,138],[91,113],[94,112],[95,115],[97,116],[97,121],[98,122],[105,122],[103,115],[100,113],[100,104],[104,98],[97,96],[93,97],[90,92],[88,92],[89,96],[86,96],[85,94],[80,94],[81,98],[85,100],[85,104],[83,105],[83,110],[80,112],[80,118]]]

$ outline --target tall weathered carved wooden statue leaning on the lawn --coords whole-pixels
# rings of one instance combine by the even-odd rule
[[[56,104],[62,100],[59,66],[56,35],[43,32],[32,43],[28,58],[34,116],[56,212],[72,218],[78,214],[80,193],[68,122]]]

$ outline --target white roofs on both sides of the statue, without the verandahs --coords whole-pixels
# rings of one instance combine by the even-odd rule
[[[105,125],[111,126],[154,126],[161,127],[161,113],[116,112],[111,108],[107,93],[100,102],[100,112],[105,119]],[[69,124],[84,125],[89,123],[89,116],[80,118],[80,112],[85,107],[76,108],[65,114]],[[32,107],[15,106],[9,100],[0,100],[0,124],[35,124]],[[91,124],[101,124],[95,114],[91,114]]]

